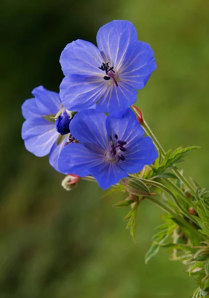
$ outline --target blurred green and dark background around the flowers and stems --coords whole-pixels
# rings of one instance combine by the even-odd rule
[[[139,208],[137,245],[128,212],[99,200],[96,184],[66,192],[48,158],[21,140],[21,104],[44,85],[59,91],[61,51],[127,19],[150,43],[157,70],[138,106],[165,149],[198,145],[185,175],[209,187],[209,1],[0,1],[0,298],[187,298],[195,283],[166,250],[144,265],[161,211]]]

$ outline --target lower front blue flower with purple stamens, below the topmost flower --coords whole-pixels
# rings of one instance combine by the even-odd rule
[[[59,169],[81,177],[90,174],[103,189],[157,158],[151,138],[143,137],[131,108],[109,116],[95,109],[82,110],[71,120],[70,131],[81,144],[73,143],[62,150]]]

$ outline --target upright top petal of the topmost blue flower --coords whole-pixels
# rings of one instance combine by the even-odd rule
[[[137,30],[129,21],[115,20],[99,29],[96,40],[104,62],[115,70],[122,64],[129,44],[137,40]]]

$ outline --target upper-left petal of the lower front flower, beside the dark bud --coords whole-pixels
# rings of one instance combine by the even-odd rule
[[[70,132],[79,142],[90,149],[106,152],[109,148],[109,138],[106,129],[107,116],[95,109],[85,109],[78,112],[70,122]]]

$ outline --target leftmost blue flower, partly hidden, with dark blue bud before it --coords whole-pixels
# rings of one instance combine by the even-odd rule
[[[22,139],[26,149],[36,156],[49,154],[50,164],[59,170],[58,157],[69,141],[70,117],[64,110],[56,124],[50,118],[62,108],[58,93],[39,86],[32,94],[35,98],[27,99],[22,105],[22,115],[26,119],[22,126]]]

